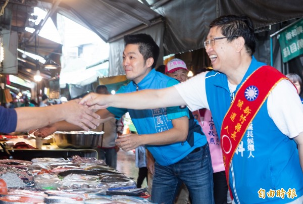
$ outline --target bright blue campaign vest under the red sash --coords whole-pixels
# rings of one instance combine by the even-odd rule
[[[243,77],[244,80],[265,64],[254,57]],[[237,89],[240,85],[237,86]],[[226,75],[209,72],[206,75],[207,99],[216,127],[222,122],[231,103]],[[237,90],[236,90],[237,91]],[[220,131],[218,131],[220,137]],[[297,197],[303,195],[303,174],[298,160],[295,142],[284,135],[268,115],[267,100],[259,110],[252,125],[243,136],[232,159],[229,183],[235,203],[287,203],[276,194],[262,198],[262,192],[295,189]],[[259,197],[261,195],[261,197]]]

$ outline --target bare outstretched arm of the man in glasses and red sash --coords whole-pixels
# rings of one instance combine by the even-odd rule
[[[174,86],[115,95],[90,93],[81,100],[80,104],[95,110],[108,107],[143,110],[186,105]]]

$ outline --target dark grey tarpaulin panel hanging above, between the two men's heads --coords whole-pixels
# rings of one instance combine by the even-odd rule
[[[216,18],[214,1],[171,1],[156,11],[165,16],[164,55],[202,48]]]

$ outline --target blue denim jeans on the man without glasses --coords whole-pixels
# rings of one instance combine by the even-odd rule
[[[208,143],[179,162],[161,166],[155,163],[151,202],[174,203],[182,182],[186,185],[192,204],[213,204],[213,168]]]

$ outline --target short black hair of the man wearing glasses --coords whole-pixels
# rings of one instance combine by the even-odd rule
[[[243,37],[245,40],[245,48],[247,53],[252,56],[256,50],[256,40],[254,33],[254,25],[247,16],[226,15],[215,19],[210,28],[218,26],[221,33],[228,36]],[[234,40],[234,37],[227,38],[228,41]]]

